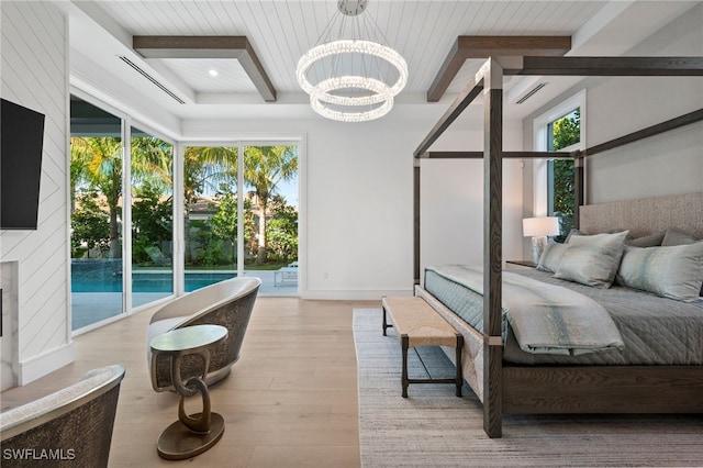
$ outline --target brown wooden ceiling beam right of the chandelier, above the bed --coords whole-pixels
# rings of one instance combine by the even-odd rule
[[[427,91],[427,102],[439,101],[468,58],[562,56],[570,49],[570,36],[459,36]]]

